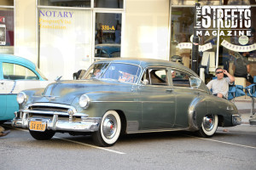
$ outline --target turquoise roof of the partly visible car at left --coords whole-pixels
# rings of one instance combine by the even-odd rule
[[[36,65],[32,61],[12,54],[0,54],[0,61],[20,63],[23,65],[28,65],[32,68],[36,67]]]

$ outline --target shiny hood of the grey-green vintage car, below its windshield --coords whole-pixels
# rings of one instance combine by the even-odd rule
[[[100,80],[79,80],[60,81],[49,84],[42,96],[35,96],[32,103],[59,103],[71,105],[73,99],[82,94],[106,91],[131,91],[132,85],[124,82],[100,81]]]

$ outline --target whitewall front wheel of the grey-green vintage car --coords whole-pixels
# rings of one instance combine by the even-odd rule
[[[107,111],[102,117],[98,131],[92,134],[94,143],[99,146],[112,146],[119,139],[121,121],[116,111]]]

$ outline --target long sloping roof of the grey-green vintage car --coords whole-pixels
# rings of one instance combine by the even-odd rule
[[[102,63],[102,62],[129,63],[129,64],[133,64],[133,65],[141,65],[143,68],[146,68],[148,66],[175,67],[175,68],[181,69],[183,71],[191,72],[191,73],[193,73],[193,75],[198,77],[198,75],[194,71],[190,70],[188,67],[181,65],[179,63],[175,63],[175,62],[167,61],[167,60],[163,60],[163,59],[114,58],[114,59],[101,59],[101,60],[97,61],[96,63]]]

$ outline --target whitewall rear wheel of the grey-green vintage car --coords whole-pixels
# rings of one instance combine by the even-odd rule
[[[218,116],[207,115],[203,117],[198,135],[203,138],[211,138],[218,127]]]

